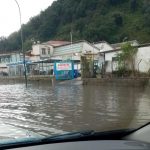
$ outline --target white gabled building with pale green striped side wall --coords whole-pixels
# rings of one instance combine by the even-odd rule
[[[61,60],[73,60],[74,68],[80,69],[81,56],[86,54],[92,54],[95,61],[103,59],[103,56],[100,55],[100,49],[87,41],[77,41],[72,44],[55,47],[52,59],[59,57]]]

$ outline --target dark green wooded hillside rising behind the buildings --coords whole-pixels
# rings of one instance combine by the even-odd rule
[[[23,25],[24,48],[33,41],[85,39],[150,42],[149,0],[57,0]],[[0,38],[0,50],[20,49],[20,31]]]

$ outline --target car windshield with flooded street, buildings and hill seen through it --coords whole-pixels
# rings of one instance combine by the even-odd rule
[[[0,138],[150,121],[148,0],[1,0]]]

